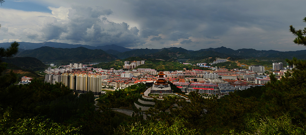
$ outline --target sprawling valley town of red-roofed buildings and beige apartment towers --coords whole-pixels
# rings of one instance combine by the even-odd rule
[[[227,61],[226,59],[220,62]],[[125,65],[139,66],[144,61],[126,61]],[[202,66],[204,63],[198,63]],[[77,65],[79,68],[77,68]],[[201,94],[227,95],[235,90],[245,90],[255,86],[262,86],[269,82],[269,78],[263,76],[262,65],[252,65],[248,69],[211,68],[211,70],[179,70],[164,71],[158,73],[155,69],[138,68],[133,70],[114,70],[80,68],[80,64],[70,64],[70,68],[49,69],[45,81],[55,84],[62,82],[74,91],[99,94],[103,88],[123,89],[137,83],[151,84],[150,93],[173,93],[168,81],[171,81],[182,92],[199,92]],[[75,67],[76,66],[76,67]],[[88,70],[90,69],[90,71]],[[282,75],[283,72],[274,72]],[[154,76],[155,75],[155,76]],[[158,75],[156,77],[156,75]]]

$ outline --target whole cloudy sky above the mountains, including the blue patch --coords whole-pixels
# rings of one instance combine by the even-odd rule
[[[306,1],[9,1],[0,43],[60,42],[126,48],[297,51]]]

